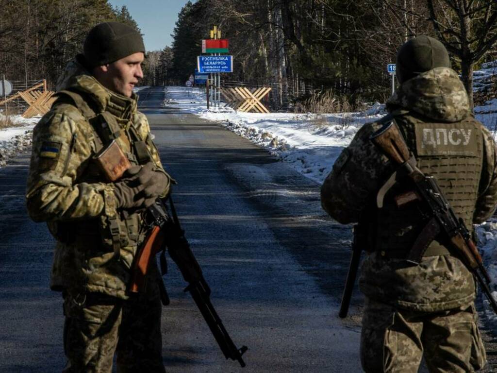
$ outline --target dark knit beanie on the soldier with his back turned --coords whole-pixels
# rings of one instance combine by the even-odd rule
[[[420,35],[405,42],[397,54],[396,74],[400,84],[436,67],[449,67],[447,49],[436,39]]]

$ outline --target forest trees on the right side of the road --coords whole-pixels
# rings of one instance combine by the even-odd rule
[[[331,90],[352,104],[384,101],[386,65],[420,34],[445,44],[468,92],[473,69],[496,58],[491,0],[197,0],[179,12],[171,48],[157,52],[149,82],[153,75],[156,84],[183,84],[214,24],[234,56],[234,72],[222,79],[271,84],[273,103],[283,107],[310,91],[329,97]]]

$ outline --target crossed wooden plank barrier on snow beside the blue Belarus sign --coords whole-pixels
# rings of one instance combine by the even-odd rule
[[[269,110],[260,100],[271,88],[261,87],[248,89],[246,87],[221,88],[221,94],[226,98],[226,106],[243,112],[269,113]]]

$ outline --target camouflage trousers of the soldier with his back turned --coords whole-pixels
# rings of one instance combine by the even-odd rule
[[[368,373],[468,373],[486,363],[474,304],[440,312],[398,309],[366,298],[361,364]]]

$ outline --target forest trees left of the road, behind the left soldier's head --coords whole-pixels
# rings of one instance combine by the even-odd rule
[[[0,0],[0,14],[0,78],[46,79],[49,88],[95,24],[120,21],[139,30],[126,6],[107,0]]]

